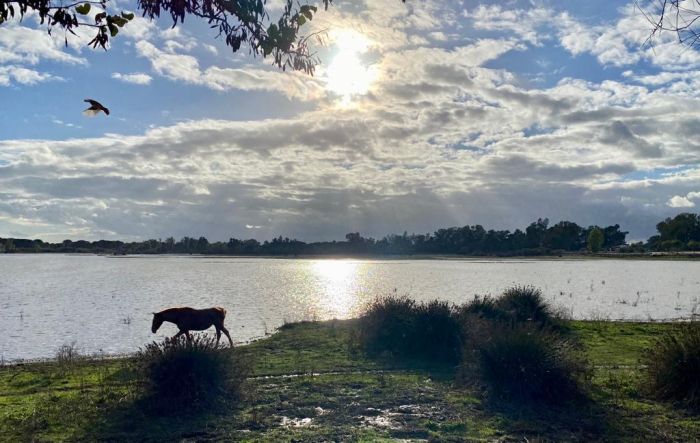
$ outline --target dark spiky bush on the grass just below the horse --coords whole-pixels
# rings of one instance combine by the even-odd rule
[[[214,337],[195,334],[146,345],[136,354],[146,406],[156,413],[196,412],[236,401],[248,364],[235,349],[219,347]]]

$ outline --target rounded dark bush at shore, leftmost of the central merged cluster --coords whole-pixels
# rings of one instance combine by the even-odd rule
[[[454,306],[443,301],[381,297],[361,316],[359,339],[370,354],[456,363],[462,328],[455,314]]]

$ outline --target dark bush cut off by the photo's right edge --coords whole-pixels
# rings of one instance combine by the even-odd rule
[[[653,395],[700,407],[700,323],[664,335],[644,355],[646,385]]]

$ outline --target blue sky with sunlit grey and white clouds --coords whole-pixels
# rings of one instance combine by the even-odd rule
[[[195,18],[138,17],[106,52],[86,28],[65,47],[33,16],[0,26],[0,237],[315,241],[548,217],[641,240],[698,211],[700,51],[645,44],[634,2],[334,5],[304,26],[324,31],[313,77]],[[85,98],[110,115],[85,117]]]

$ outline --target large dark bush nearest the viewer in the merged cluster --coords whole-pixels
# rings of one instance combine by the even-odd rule
[[[489,389],[521,402],[561,404],[582,398],[589,379],[575,342],[529,325],[492,328],[476,355]]]

